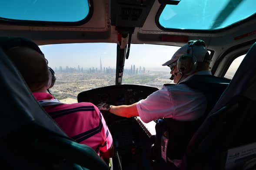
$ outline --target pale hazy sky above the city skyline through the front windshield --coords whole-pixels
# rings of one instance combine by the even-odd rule
[[[180,47],[131,44],[129,58],[125,61],[126,69],[131,65],[146,69],[162,69],[162,64],[171,59]],[[116,68],[116,44],[115,43],[72,43],[53,44],[40,46],[49,66],[59,68],[62,66],[76,67],[80,65],[84,69],[100,69],[100,58],[103,67]],[[163,69],[166,69],[165,67]]]

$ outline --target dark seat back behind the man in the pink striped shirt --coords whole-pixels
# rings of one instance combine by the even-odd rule
[[[96,152],[58,127],[0,48],[0,163],[3,169],[109,169]]]

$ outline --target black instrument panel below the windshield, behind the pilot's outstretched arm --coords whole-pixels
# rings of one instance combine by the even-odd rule
[[[94,105],[100,102],[111,105],[131,105],[157,90],[158,88],[143,85],[111,85],[81,92],[77,96],[77,101],[91,102]]]

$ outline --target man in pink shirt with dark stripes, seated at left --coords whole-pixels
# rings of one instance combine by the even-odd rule
[[[34,97],[61,129],[78,143],[92,147],[104,160],[113,157],[113,139],[99,109],[87,102],[63,104],[47,93],[55,74],[34,42],[8,38],[4,44]]]

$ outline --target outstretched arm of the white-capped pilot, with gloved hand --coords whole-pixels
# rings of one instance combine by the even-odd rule
[[[173,96],[180,95],[180,90],[170,94],[168,89],[164,86],[161,90],[157,90],[149,95],[146,99],[142,99],[132,105],[111,106],[106,103],[100,105],[100,110],[107,110],[117,116],[133,117],[140,116],[143,122],[148,123],[158,118],[169,118],[175,114],[175,107],[173,104]],[[105,106],[105,108],[104,108]]]

